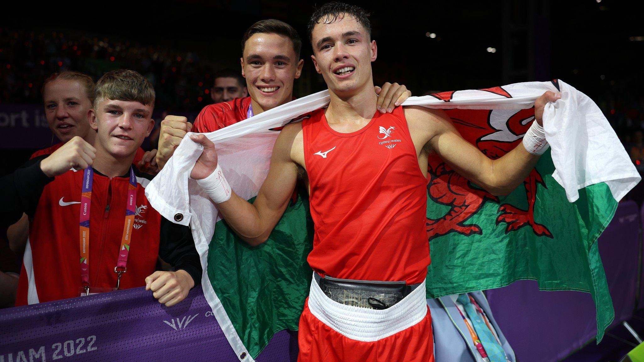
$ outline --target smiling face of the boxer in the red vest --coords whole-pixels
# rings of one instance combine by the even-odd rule
[[[313,28],[311,43],[311,59],[330,91],[350,96],[373,89],[371,62],[377,48],[365,27],[353,17],[340,15],[328,24],[320,21]]]

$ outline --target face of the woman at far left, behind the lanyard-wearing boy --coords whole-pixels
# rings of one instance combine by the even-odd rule
[[[43,89],[44,113],[52,133],[67,142],[80,136],[93,143],[95,132],[87,118],[91,100],[79,81],[55,79]]]

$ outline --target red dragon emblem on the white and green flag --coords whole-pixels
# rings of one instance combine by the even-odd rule
[[[501,87],[481,90],[511,98],[511,95]],[[450,102],[453,93],[453,91],[448,91],[435,93],[432,96]],[[493,159],[514,149],[535,119],[534,108],[520,111],[467,110],[467,117],[461,117],[464,111],[459,109],[446,112],[462,137]],[[441,218],[427,218],[428,239],[431,240],[448,233],[460,233],[466,236],[482,234],[481,227],[476,224],[465,224],[465,222],[476,214],[485,202],[499,202],[497,196],[473,186],[466,178],[450,169],[436,155],[430,155],[428,163],[428,196],[434,202],[451,207],[450,211]],[[535,222],[537,184],[545,187],[541,175],[536,169],[533,169],[524,181],[527,210],[510,204],[499,205],[500,215],[497,217],[497,225],[502,222],[506,223],[506,234],[529,226],[537,236],[553,238],[547,227]]]

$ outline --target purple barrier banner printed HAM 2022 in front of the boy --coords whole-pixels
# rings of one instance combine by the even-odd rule
[[[136,288],[5,309],[0,325],[0,362],[239,360],[201,288],[169,308]],[[296,358],[296,333],[281,331],[256,360]]]

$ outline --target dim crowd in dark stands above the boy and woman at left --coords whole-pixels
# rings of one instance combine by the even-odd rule
[[[198,111],[211,103],[214,66],[198,53],[53,30],[0,28],[0,44],[3,104],[39,104],[43,81],[55,71],[80,71],[99,79],[115,69],[144,75],[155,87],[157,104],[167,110]]]

